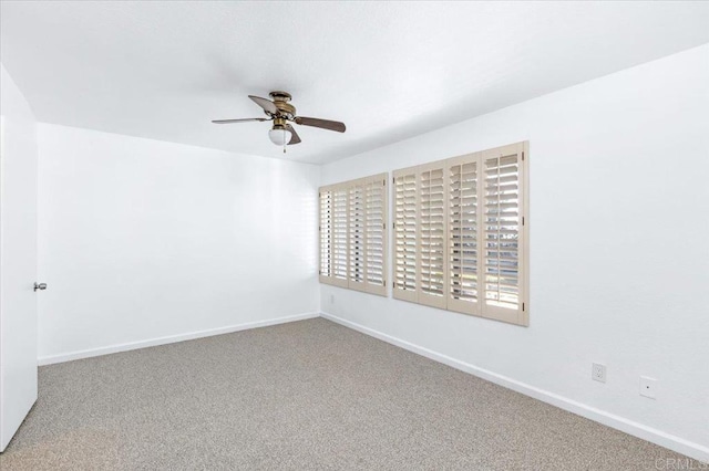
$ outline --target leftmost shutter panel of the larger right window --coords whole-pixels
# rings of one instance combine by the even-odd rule
[[[394,171],[393,296],[418,301],[417,213],[418,172],[415,168]]]

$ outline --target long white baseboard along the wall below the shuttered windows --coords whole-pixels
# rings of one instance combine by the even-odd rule
[[[701,462],[709,462],[708,447],[703,447],[699,443],[685,440],[680,437],[666,433],[661,430],[644,426],[643,423],[628,420],[626,418],[616,416],[614,414],[606,412],[605,410],[600,410],[595,407],[587,406],[582,402],[577,402],[573,399],[568,399],[557,394],[536,388],[534,386],[527,385],[522,381],[517,381],[515,379],[512,379],[503,375],[499,375],[496,373],[490,371],[484,368],[480,368],[469,363],[458,360],[450,356],[440,354],[438,352],[433,352],[429,348],[412,344],[407,341],[402,341],[401,338],[397,338],[389,334],[374,331],[373,328],[366,327],[361,324],[353,323],[351,321],[338,317],[336,315],[323,312],[321,313],[321,316],[332,322],[336,322],[338,324],[341,324],[346,327],[361,332],[362,334],[370,335],[374,338],[379,338],[380,341],[404,348],[409,352],[413,352],[415,354],[422,355],[432,360],[451,366],[455,369],[460,369],[461,371],[469,373],[471,375],[486,379],[496,385],[521,393],[525,396],[533,397],[543,402],[551,404],[552,406],[556,406],[561,409],[568,410],[569,412],[573,412],[578,416],[585,417],[587,419],[594,420],[596,422],[603,423],[604,426],[612,427],[625,433],[631,435],[634,437],[638,437],[643,440],[647,440],[649,442],[659,444],[660,447],[665,447],[670,450],[677,451],[678,453],[686,454],[695,460],[699,460]]]

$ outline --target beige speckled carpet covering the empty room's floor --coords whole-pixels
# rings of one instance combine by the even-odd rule
[[[667,458],[681,457],[317,318],[42,367],[0,469],[653,470]]]

